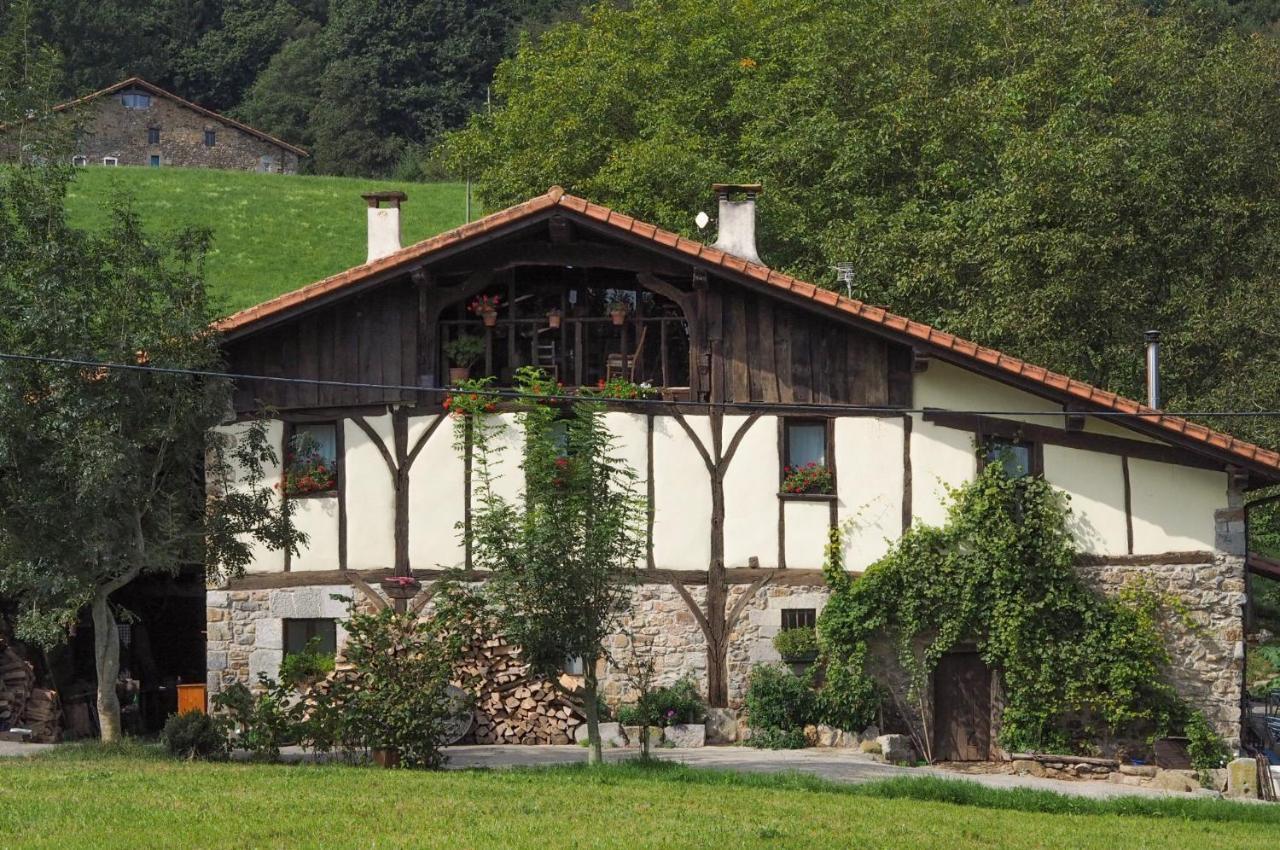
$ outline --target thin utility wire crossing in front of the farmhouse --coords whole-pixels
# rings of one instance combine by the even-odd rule
[[[186,375],[192,378],[215,378],[223,380],[256,380],[268,381],[274,384],[296,384],[305,387],[334,387],[340,389],[392,389],[404,393],[465,393],[468,396],[483,396],[485,398],[526,398],[527,393],[521,393],[515,389],[471,389],[463,387],[412,387],[408,384],[375,384],[366,381],[348,381],[348,380],[324,380],[319,378],[282,378],[278,375],[248,375],[244,373],[228,373],[228,371],[214,371],[206,369],[180,369],[175,366],[152,366],[148,364],[113,364],[99,360],[77,360],[74,357],[51,357],[45,355],[13,355],[0,352],[0,361],[10,362],[33,362],[33,364],[49,364],[56,366],[79,366],[82,369],[108,369],[119,371],[136,371],[136,373],[152,373],[159,375]],[[549,401],[581,401],[581,396],[573,394],[558,394],[558,396],[540,396],[540,398],[547,398]],[[760,408],[760,410],[849,410],[865,413],[890,413],[890,415],[902,415],[902,413],[966,413],[970,416],[1110,416],[1110,417],[1133,417],[1133,419],[1151,419],[1152,416],[1179,416],[1179,417],[1207,417],[1207,416],[1229,416],[1229,417],[1242,417],[1242,419],[1265,419],[1276,416],[1280,417],[1280,410],[1261,410],[1261,411],[1192,411],[1192,412],[1171,412],[1171,411],[1156,411],[1149,413],[1128,413],[1125,411],[1043,411],[1043,410],[954,410],[942,407],[888,407],[878,405],[849,405],[844,402],[696,402],[696,401],[666,401],[666,399],[653,399],[653,398],[602,398],[611,405],[631,405],[631,403],[653,403],[659,402],[662,405],[668,405],[672,407],[690,407],[705,410],[708,407],[732,407],[732,408]]]

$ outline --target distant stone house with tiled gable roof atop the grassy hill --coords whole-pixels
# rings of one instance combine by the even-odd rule
[[[307,152],[131,77],[55,109],[77,123],[76,165],[218,168],[296,174]]]

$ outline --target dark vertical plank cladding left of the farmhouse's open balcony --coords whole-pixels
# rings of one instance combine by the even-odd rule
[[[419,293],[406,279],[316,310],[266,333],[228,343],[237,374],[365,384],[417,384]],[[279,410],[412,402],[399,389],[239,381],[237,411],[264,403]]]

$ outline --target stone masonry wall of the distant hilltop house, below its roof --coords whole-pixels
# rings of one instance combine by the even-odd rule
[[[221,168],[242,172],[294,174],[298,157],[264,138],[209,118],[168,97],[151,96],[147,109],[125,109],[122,92],[96,97],[78,108],[83,129],[74,154],[87,165],[102,165],[114,156],[120,165],[150,165],[160,156],[161,166]],[[160,142],[151,145],[147,131],[159,128]],[[205,131],[214,131],[214,145],[205,145]]]

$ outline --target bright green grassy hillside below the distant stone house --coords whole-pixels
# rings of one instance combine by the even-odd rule
[[[465,219],[460,183],[404,184],[339,177],[293,177],[204,169],[86,168],[68,198],[72,221],[106,220],[116,191],[133,195],[155,230],[206,227],[214,245],[210,291],[224,312],[252,306],[365,261],[361,192],[402,189],[404,243]]]

